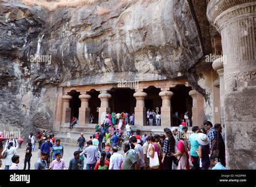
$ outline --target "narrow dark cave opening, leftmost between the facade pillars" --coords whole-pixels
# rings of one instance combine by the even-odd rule
[[[79,99],[80,92],[72,90],[69,92],[69,95],[72,96],[69,102],[71,107],[71,119],[75,117],[79,120],[79,107],[81,107],[81,100]]]

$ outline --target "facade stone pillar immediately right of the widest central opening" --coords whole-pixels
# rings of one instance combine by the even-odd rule
[[[133,93],[133,97],[136,98],[136,107],[134,108],[134,125],[144,126],[146,125],[146,107],[145,97],[147,93],[138,91]]]

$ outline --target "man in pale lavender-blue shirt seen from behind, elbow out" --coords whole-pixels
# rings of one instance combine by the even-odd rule
[[[80,155],[86,154],[86,170],[93,170],[97,161],[97,148],[92,145],[92,141],[87,142],[89,147],[86,147]]]

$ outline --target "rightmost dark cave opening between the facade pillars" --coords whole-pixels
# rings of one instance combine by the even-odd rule
[[[184,114],[188,112],[188,118],[190,119],[190,126],[191,117],[192,117],[192,105],[193,99],[188,92],[192,90],[191,87],[186,87],[185,85],[176,85],[170,89],[173,92],[173,97],[171,98],[171,105],[172,105],[172,114],[178,112],[178,116],[180,119],[173,117],[173,126],[179,126],[181,124],[181,120],[184,119]]]

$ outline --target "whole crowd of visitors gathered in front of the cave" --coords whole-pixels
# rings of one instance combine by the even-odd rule
[[[125,124],[126,114],[122,113],[114,124],[110,123],[109,116],[106,116],[104,123],[95,127],[88,140],[85,140],[81,133],[77,139],[77,150],[73,158],[66,166],[64,146],[60,140],[55,140],[54,134],[46,135],[45,131],[36,134],[31,133],[26,141],[24,150],[24,167],[28,164],[35,151],[35,144],[38,141],[38,160],[35,163],[36,170],[42,169],[84,169],[86,170],[107,170],[107,169],[140,169],[140,170],[207,170],[225,168],[225,143],[224,134],[220,124],[214,126],[210,121],[204,122],[204,127],[192,127],[192,134],[187,133],[186,124],[178,131],[177,127],[164,128],[163,134],[150,133],[140,136],[137,131],[132,134],[131,126],[125,125],[126,141],[123,136],[123,123]],[[111,119],[112,122],[112,119]],[[184,123],[185,121],[183,121]],[[119,126],[119,123],[122,125]],[[119,129],[120,127],[120,129]],[[123,128],[122,128],[123,127]],[[5,169],[18,169],[19,147],[17,139],[10,136],[9,139],[0,136],[0,145],[3,147],[0,153]],[[0,147],[1,148],[1,147]],[[123,148],[123,153],[121,148]],[[85,159],[86,158],[86,159]],[[85,161],[86,160],[86,161]],[[192,167],[190,167],[190,161]],[[85,163],[84,163],[85,162]],[[2,161],[0,162],[2,165]]]

